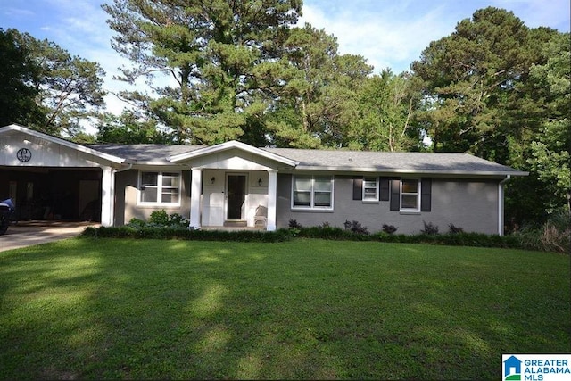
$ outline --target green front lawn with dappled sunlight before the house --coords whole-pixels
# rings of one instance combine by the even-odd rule
[[[0,253],[0,378],[498,379],[571,352],[569,256],[296,239]]]

